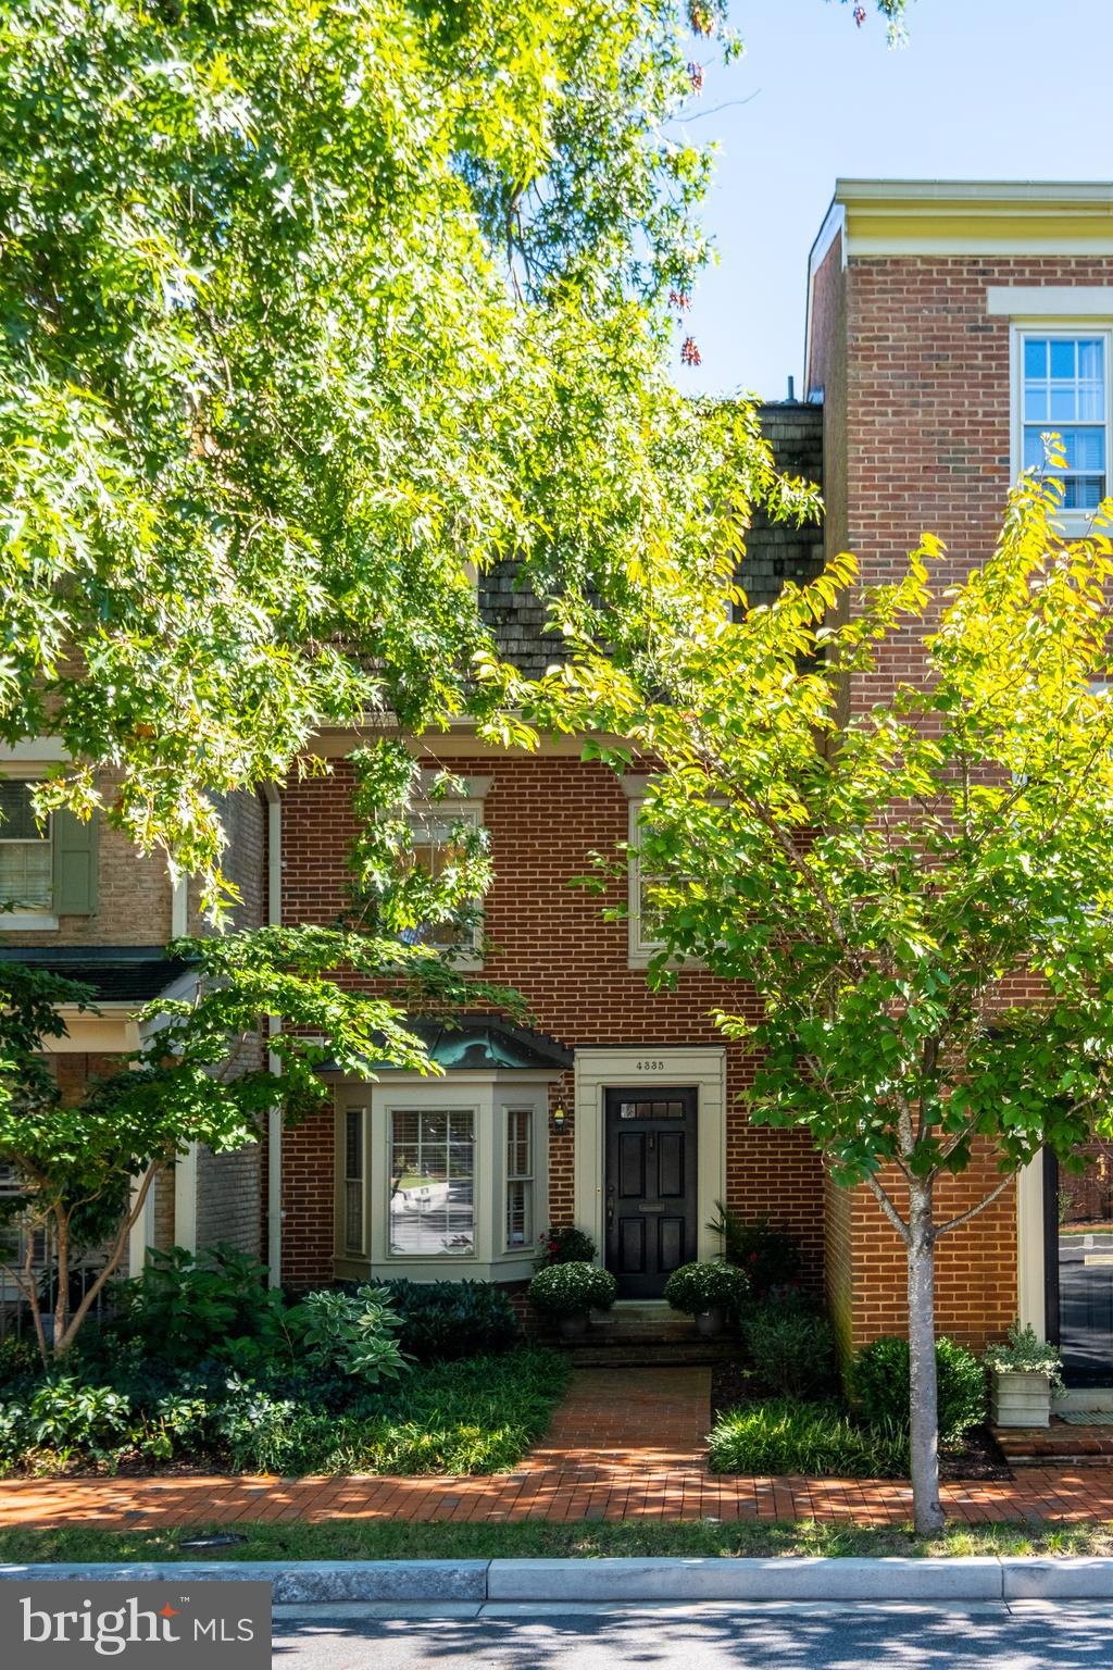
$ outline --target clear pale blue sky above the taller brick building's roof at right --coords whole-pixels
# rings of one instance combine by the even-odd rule
[[[1113,179],[1113,0],[913,0],[898,52],[873,10],[854,28],[836,0],[734,0],[733,20],[746,57],[723,68],[701,43],[677,124],[719,144],[687,391],[783,399],[791,372],[801,392],[808,250],[836,175]]]

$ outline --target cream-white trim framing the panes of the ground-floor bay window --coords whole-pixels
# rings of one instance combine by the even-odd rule
[[[507,1152],[506,1116],[529,1107],[534,1114],[534,1224],[549,1207],[547,1086],[552,1074],[454,1072],[431,1084],[414,1074],[390,1074],[374,1086],[344,1086],[335,1096],[334,1263],[339,1279],[389,1281],[526,1281],[534,1273],[536,1246],[506,1246]],[[364,1256],[344,1247],[342,1172],[344,1116],[362,1107],[364,1127]],[[461,1109],[472,1114],[476,1137],[474,1249],[419,1254],[390,1252],[390,1114],[421,1109]]]

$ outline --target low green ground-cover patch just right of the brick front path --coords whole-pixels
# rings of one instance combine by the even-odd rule
[[[759,1476],[906,1478],[908,1438],[894,1426],[859,1426],[836,1404],[776,1399],[721,1414],[708,1465]]]

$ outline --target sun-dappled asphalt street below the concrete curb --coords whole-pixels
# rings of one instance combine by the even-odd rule
[[[285,1670],[1108,1670],[1108,1602],[275,1607]]]

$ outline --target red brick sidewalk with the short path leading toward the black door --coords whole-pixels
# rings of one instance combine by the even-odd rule
[[[706,1368],[579,1369],[552,1428],[496,1478],[82,1478],[0,1483],[0,1525],[159,1528],[250,1520],[853,1520],[903,1525],[906,1485],[708,1473]],[[1113,1466],[946,1485],[958,1521],[1113,1520]]]

